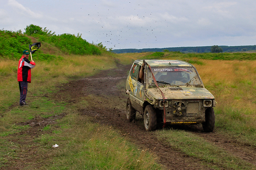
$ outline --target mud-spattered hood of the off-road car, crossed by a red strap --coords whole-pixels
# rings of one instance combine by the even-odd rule
[[[206,88],[201,87],[159,87],[165,99],[214,99]],[[163,99],[158,88],[147,88],[147,93],[155,99]]]

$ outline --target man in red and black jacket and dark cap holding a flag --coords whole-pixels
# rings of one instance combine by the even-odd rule
[[[28,83],[31,83],[31,68],[36,66],[32,60],[28,60],[28,50],[23,51],[23,55],[19,60],[18,82],[20,86],[20,106],[26,105],[26,96],[28,91]]]

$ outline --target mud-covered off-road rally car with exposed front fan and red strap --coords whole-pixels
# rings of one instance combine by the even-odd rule
[[[215,98],[205,89],[196,68],[181,60],[136,60],[126,79],[126,118],[144,115],[147,131],[157,123],[202,124],[212,132]]]

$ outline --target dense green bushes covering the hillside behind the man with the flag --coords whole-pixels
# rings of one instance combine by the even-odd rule
[[[22,34],[21,30],[16,32],[0,30],[0,57],[20,59],[22,51],[25,49],[29,50],[28,44],[32,44],[31,39],[26,35],[35,37],[37,41],[42,42],[42,45],[44,42],[47,42],[52,46],[59,48],[65,54],[101,54],[100,47],[90,44],[82,39],[82,34],[79,35],[78,33],[77,36],[68,33],[55,35],[55,32],[52,33],[52,31],[47,30],[46,27],[43,29],[40,26],[31,24],[25,28],[24,34]],[[102,44],[100,45],[104,47]],[[40,49],[33,55],[33,58],[34,56],[37,57],[38,60],[52,60],[53,58],[56,58],[54,55],[42,54]]]

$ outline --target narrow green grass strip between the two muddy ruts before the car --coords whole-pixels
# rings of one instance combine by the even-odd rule
[[[202,160],[209,168],[255,169],[254,165],[190,132],[169,129],[162,130],[158,134],[160,138],[164,138],[173,148],[180,149],[189,156]]]

